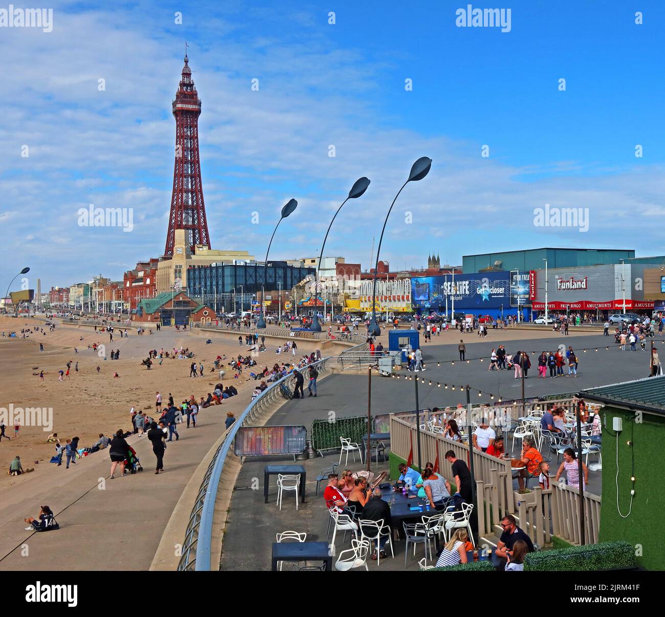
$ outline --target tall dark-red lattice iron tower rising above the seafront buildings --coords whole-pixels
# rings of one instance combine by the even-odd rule
[[[173,194],[166,232],[165,257],[173,255],[176,229],[186,230],[185,239],[190,251],[193,252],[196,245],[205,245],[211,249],[199,162],[201,99],[194,87],[192,69],[188,62],[185,55],[180,88],[173,102],[173,115],[176,118],[176,162],[173,168]]]

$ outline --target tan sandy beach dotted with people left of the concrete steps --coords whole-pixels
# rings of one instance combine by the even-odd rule
[[[13,404],[15,408],[53,409],[50,430],[44,430],[42,426],[21,426],[18,438],[13,437],[14,427],[5,419],[5,434],[11,437],[11,441],[2,439],[0,443],[0,488],[27,483],[31,477],[43,473],[45,468],[55,468],[53,463],[49,463],[55,454],[55,445],[47,443],[50,433],[58,433],[63,444],[65,439],[77,435],[80,437],[79,447],[90,447],[97,441],[99,433],[112,436],[120,428],[131,431],[132,406],[154,417],[155,393],[158,390],[164,404],[168,402],[170,392],[176,405],[192,394],[198,401],[201,396],[212,392],[219,382],[217,371],[209,372],[217,355],[231,358],[233,354],[249,354],[249,348],[239,346],[237,336],[231,334],[194,335],[189,331],[176,332],[174,328],[165,328],[161,332],[152,335],[146,332],[142,336],[138,336],[136,330],[128,330],[128,338],[120,339],[116,330],[114,341],[110,343],[107,332],[95,332],[89,326],[57,323],[55,331],[49,332],[43,320],[0,317],[0,332],[17,332],[17,338],[0,336],[0,408],[9,410],[9,405]],[[43,327],[46,334],[33,333],[25,340],[19,338],[21,328],[34,326]],[[79,340],[81,336],[83,340]],[[207,338],[211,338],[213,344],[206,345]],[[44,344],[43,352],[39,351],[40,342]],[[88,349],[88,344],[93,342],[106,345],[107,360]],[[148,357],[148,350],[159,352],[163,347],[165,351],[171,351],[181,345],[194,351],[193,360],[168,358],[162,366],[157,360],[150,371],[141,365],[142,360]],[[78,354],[74,353],[74,347],[78,348]],[[315,350],[317,344],[299,341],[298,347],[299,354],[304,354]],[[120,360],[110,360],[111,348],[120,350]],[[259,354],[257,368],[271,368],[279,360],[293,359],[290,354],[288,360],[286,356],[277,356],[269,346],[267,351]],[[68,360],[72,360],[70,378],[59,382],[58,371],[66,371]],[[205,377],[189,376],[190,364],[194,360],[197,366],[199,362],[203,363]],[[74,371],[76,361],[78,373]],[[260,383],[246,381],[247,369],[239,379],[233,379],[233,372],[226,366],[228,361],[224,360],[224,386],[233,383],[242,393],[253,390]],[[96,372],[97,366],[101,368],[100,373]],[[43,382],[39,380],[41,370],[45,372]],[[118,372],[118,378],[113,377],[114,372]],[[205,410],[202,410],[201,416],[203,414]],[[24,469],[34,467],[35,471],[20,476],[8,475],[9,463],[16,455],[21,457]],[[60,469],[64,470],[65,466]]]

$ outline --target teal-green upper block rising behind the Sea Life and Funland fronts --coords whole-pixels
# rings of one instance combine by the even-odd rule
[[[541,270],[545,261],[550,268],[577,268],[600,264],[619,263],[632,259],[635,251],[625,249],[529,249],[527,251],[500,251],[482,255],[464,255],[462,272],[472,274],[488,268],[501,270]]]

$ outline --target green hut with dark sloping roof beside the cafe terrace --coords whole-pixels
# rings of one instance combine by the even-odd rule
[[[641,566],[665,570],[665,376],[593,388],[582,396],[604,405],[599,541],[627,541]]]

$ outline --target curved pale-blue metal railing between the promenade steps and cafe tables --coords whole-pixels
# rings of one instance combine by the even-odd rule
[[[316,366],[319,372],[326,370],[326,363],[330,358],[323,358],[318,362],[313,362],[308,366]],[[239,418],[231,424],[225,431],[224,439],[217,447],[210,464],[208,465],[201,487],[199,488],[192,514],[187,526],[185,540],[182,545],[182,556],[178,563],[178,571],[196,570],[209,571],[210,551],[212,542],[213,515],[215,512],[215,501],[217,500],[217,490],[219,488],[219,479],[224,469],[224,463],[229,455],[229,450],[233,445],[236,433],[246,420],[252,420],[258,410],[263,410],[265,406],[271,404],[278,395],[285,396],[285,388],[288,388],[289,382],[293,380],[293,372],[280,380],[274,382],[267,390],[263,390],[255,400],[253,400]],[[291,394],[289,390],[288,394]],[[286,397],[285,397],[286,398]],[[194,558],[192,559],[192,556]]]

